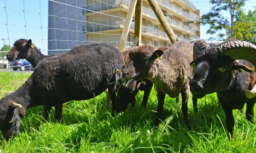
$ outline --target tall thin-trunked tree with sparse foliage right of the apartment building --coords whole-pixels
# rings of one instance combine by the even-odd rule
[[[244,6],[246,0],[210,0],[209,3],[213,4],[211,10],[202,15],[201,24],[209,25],[207,34],[217,34],[217,37],[210,38],[210,40],[226,40],[233,38],[234,20]],[[223,12],[229,11],[230,20],[223,16]],[[224,32],[223,32],[224,31]]]

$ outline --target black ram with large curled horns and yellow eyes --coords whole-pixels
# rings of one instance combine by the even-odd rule
[[[206,41],[198,40],[193,52],[195,72],[190,91],[197,98],[217,92],[226,115],[228,138],[233,138],[233,109],[241,109],[246,103],[246,118],[253,122],[256,98],[248,99],[245,91],[250,91],[256,83],[256,46],[246,41],[228,40],[210,47]]]

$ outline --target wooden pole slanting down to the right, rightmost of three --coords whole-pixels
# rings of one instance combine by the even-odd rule
[[[157,16],[157,19],[159,20],[161,26],[163,27],[164,31],[166,32],[167,36],[171,40],[172,43],[176,42],[176,36],[174,32],[172,31],[171,26],[169,25],[168,21],[163,15],[163,12],[161,8],[158,6],[158,3],[156,0],[148,0],[149,5],[151,6],[152,10]]]

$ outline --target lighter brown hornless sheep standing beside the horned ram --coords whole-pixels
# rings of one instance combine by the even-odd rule
[[[157,90],[157,119],[163,113],[165,94],[177,97],[181,93],[182,113],[185,122],[189,125],[188,106],[189,78],[192,77],[192,68],[189,63],[192,60],[193,44],[188,42],[176,42],[169,50],[154,50],[152,45],[142,45],[131,48],[129,62],[122,69],[123,79],[140,80],[149,79],[155,84]]]

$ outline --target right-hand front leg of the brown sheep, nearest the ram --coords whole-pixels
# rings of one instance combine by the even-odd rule
[[[189,117],[188,117],[188,100],[189,100],[189,88],[186,88],[184,91],[181,91],[181,111],[184,116],[186,125],[189,128]]]

